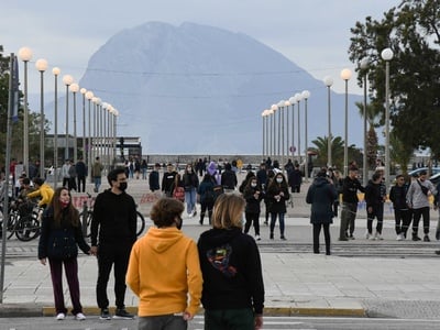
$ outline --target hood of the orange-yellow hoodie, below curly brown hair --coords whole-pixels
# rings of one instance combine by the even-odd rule
[[[146,244],[150,245],[157,253],[163,253],[183,238],[183,232],[175,227],[151,227],[147,233],[141,240],[144,240],[144,242],[146,242]]]

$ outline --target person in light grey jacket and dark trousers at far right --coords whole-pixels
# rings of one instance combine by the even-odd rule
[[[421,170],[419,177],[410,184],[406,194],[408,207],[413,210],[413,241],[420,241],[418,237],[419,221],[424,218],[424,241],[429,239],[429,197],[436,196],[437,189],[430,180],[427,179],[427,172]]]

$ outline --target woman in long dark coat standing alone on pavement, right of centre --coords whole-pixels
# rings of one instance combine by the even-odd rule
[[[326,170],[318,173],[317,178],[307,191],[306,201],[311,204],[310,223],[314,226],[314,253],[319,253],[319,234],[323,228],[326,254],[330,255],[330,223],[333,223],[333,202],[337,190],[326,175]]]

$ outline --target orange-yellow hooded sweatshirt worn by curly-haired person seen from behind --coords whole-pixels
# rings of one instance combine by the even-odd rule
[[[202,282],[196,242],[177,228],[150,228],[134,243],[127,284],[140,299],[140,317],[184,311],[194,316]]]

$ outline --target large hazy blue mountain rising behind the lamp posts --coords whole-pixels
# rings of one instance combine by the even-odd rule
[[[143,154],[258,154],[262,111],[304,89],[311,94],[309,145],[328,134],[321,80],[248,35],[212,26],[148,22],[123,30],[91,56],[79,86],[119,110],[118,135],[141,136]],[[354,100],[350,144],[360,145]],[[343,136],[344,96],[332,94],[331,107],[333,135]],[[301,122],[304,150],[304,101]]]

